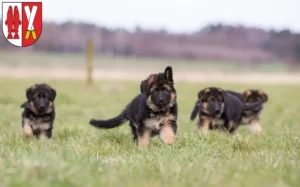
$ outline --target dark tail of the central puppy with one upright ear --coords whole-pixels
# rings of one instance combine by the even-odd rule
[[[118,116],[111,118],[109,120],[91,119],[90,125],[97,127],[97,128],[112,129],[112,128],[122,125],[126,121],[127,121],[126,111],[124,110],[121,114],[119,114]]]

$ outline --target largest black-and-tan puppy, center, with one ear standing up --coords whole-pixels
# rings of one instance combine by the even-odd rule
[[[133,141],[147,147],[156,135],[165,144],[172,144],[177,133],[177,98],[172,67],[164,73],[151,74],[138,94],[117,116],[109,120],[90,120],[97,128],[115,128],[129,120]]]

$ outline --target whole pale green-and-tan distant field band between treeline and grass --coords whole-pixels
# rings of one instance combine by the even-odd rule
[[[279,62],[247,64],[95,56],[95,80],[140,81],[171,65],[176,81],[300,84],[300,71]],[[0,53],[0,77],[86,79],[84,54]]]

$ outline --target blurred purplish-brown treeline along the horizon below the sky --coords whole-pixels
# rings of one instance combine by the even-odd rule
[[[127,31],[86,23],[45,22],[37,43],[26,50],[82,53],[88,39],[94,40],[95,52],[101,55],[300,63],[299,33],[222,24],[208,25],[190,34],[174,34],[140,27]],[[0,49],[20,50],[10,45],[4,37],[0,37]]]

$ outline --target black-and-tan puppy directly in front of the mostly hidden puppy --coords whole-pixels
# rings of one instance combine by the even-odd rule
[[[208,87],[198,92],[198,100],[190,118],[194,120],[199,114],[197,127],[201,133],[205,134],[212,129],[233,133],[242,118],[242,113],[260,107],[262,103],[244,104],[222,88]]]

